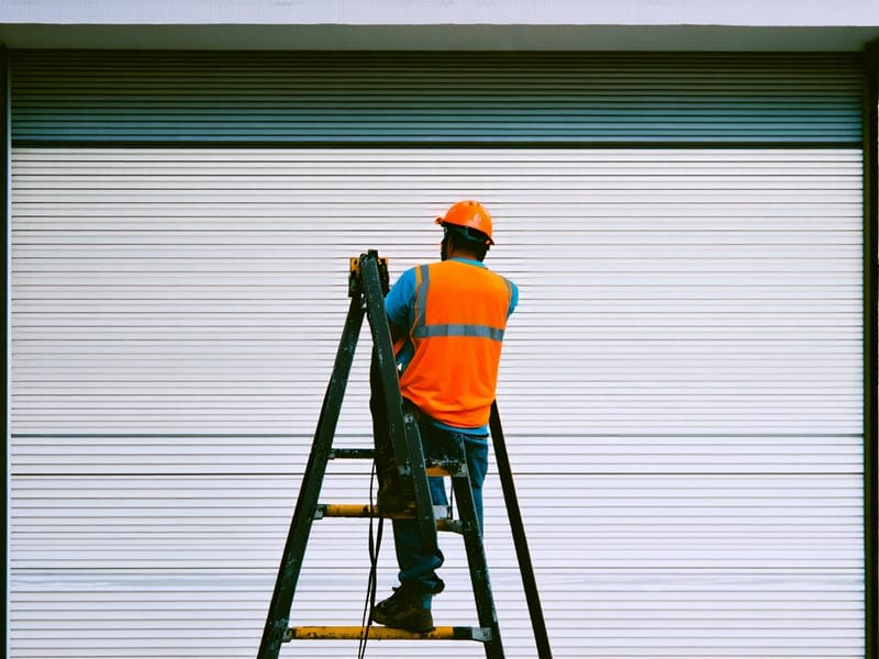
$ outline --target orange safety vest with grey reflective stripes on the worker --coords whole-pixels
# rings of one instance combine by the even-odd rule
[[[513,294],[490,270],[445,260],[415,270],[410,340],[400,390],[424,414],[453,427],[488,423]]]

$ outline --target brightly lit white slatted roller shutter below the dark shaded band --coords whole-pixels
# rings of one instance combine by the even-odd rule
[[[521,287],[499,403],[555,656],[861,656],[858,149],[20,147],[12,167],[14,657],[255,654],[347,258],[435,258],[463,198]],[[342,446],[370,444],[367,340]],[[324,501],[365,501],[363,470],[332,469]],[[532,657],[488,488],[507,654]],[[443,539],[434,617],[472,624]],[[293,621],[359,623],[367,563],[364,524],[315,525]],[[389,534],[381,568],[390,587]],[[415,649],[483,656],[370,654]]]

